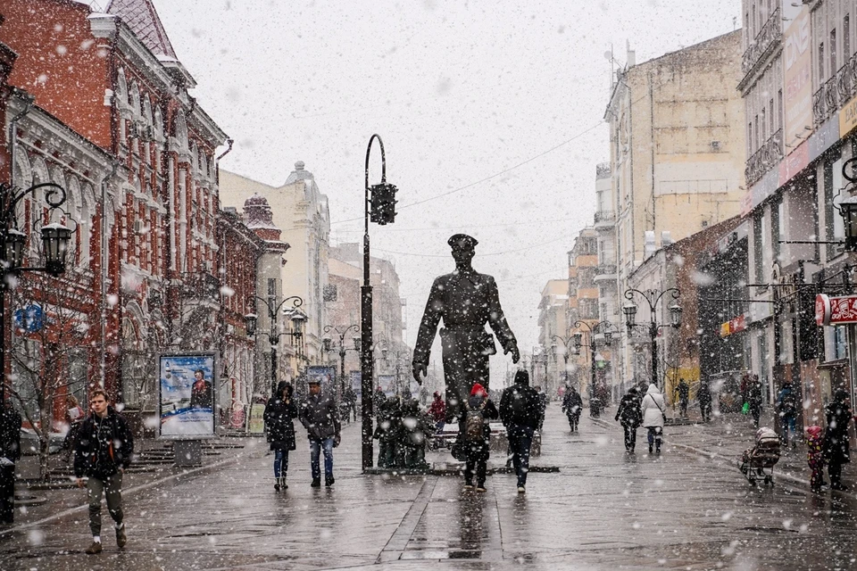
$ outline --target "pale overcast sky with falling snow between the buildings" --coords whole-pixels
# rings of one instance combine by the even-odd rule
[[[279,186],[306,162],[331,241],[362,239],[363,161],[384,141],[395,225],[370,229],[395,261],[416,338],[446,239],[478,239],[522,351],[549,278],[567,277],[609,160],[611,62],[637,62],[739,25],[740,0],[412,2],[154,0],[194,95],[235,148],[220,167]],[[736,24],[738,22],[738,24]],[[380,178],[372,151],[371,182]],[[412,203],[419,203],[410,206]],[[495,358],[496,367],[505,360]]]

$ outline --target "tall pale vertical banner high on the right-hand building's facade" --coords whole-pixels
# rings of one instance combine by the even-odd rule
[[[783,14],[786,16],[786,14]],[[786,16],[787,17],[787,16]],[[786,149],[795,149],[810,136],[812,128],[812,55],[810,9],[803,5],[783,31],[783,106]],[[809,127],[810,130],[807,130]]]

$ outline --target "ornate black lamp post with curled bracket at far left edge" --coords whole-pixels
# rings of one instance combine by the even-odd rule
[[[62,186],[48,182],[21,190],[18,186],[0,184],[0,335],[3,335],[0,337],[0,406],[5,406],[6,401],[6,291],[9,289],[9,277],[17,276],[22,271],[39,271],[54,277],[61,276],[65,271],[71,241],[70,228],[55,222],[46,224],[41,230],[45,266],[24,266],[27,235],[18,229],[15,209],[28,194],[36,196],[39,188],[45,189],[45,202],[50,208],[47,219],[51,219],[54,210],[65,203],[66,194]]]

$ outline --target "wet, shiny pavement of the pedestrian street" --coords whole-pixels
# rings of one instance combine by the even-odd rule
[[[581,432],[570,434],[553,403],[534,462],[560,471],[531,475],[523,495],[506,474],[489,476],[486,493],[465,492],[452,476],[363,476],[355,424],[335,451],[332,488],[310,488],[301,438],[289,488],[278,493],[264,443],[244,439],[245,448],[186,476],[129,477],[124,550],[105,519],[104,553],[85,555],[85,492],[39,492],[46,504],[19,513],[0,536],[0,568],[857,567],[857,497],[810,493],[800,484],[800,454],[784,460],[793,461],[794,479],[747,484],[731,463],[752,441],[743,418],[670,427],[660,457],[645,453],[642,431],[637,454],[626,454],[611,410],[605,418],[611,422],[583,418]],[[445,451],[431,456],[448,459]],[[495,456],[492,464],[503,461]]]

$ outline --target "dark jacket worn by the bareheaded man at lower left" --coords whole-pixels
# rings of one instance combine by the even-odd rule
[[[95,413],[83,421],[74,453],[74,475],[100,480],[110,477],[119,468],[128,468],[134,453],[134,436],[128,422],[111,406],[107,416]]]

